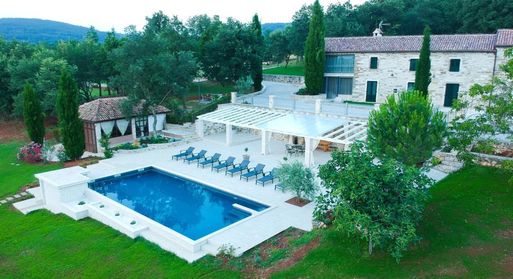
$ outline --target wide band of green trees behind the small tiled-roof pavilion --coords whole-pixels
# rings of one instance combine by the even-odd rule
[[[185,107],[188,86],[198,76],[222,85],[251,79],[254,89],[260,90],[263,40],[256,14],[250,23],[234,18],[221,22],[219,16],[206,14],[184,23],[161,11],[146,17],[142,31],[128,26],[119,38],[112,29],[103,42],[92,26],[80,41],[55,44],[0,37],[0,112],[4,119],[23,116],[21,92],[28,83],[45,115],[56,121],[51,116],[57,115],[63,68],[75,79],[81,103],[97,95],[122,93],[133,96],[132,101],[144,97],[146,106],[155,99],[162,104],[177,98]]]

